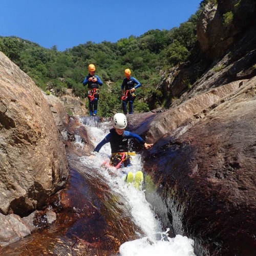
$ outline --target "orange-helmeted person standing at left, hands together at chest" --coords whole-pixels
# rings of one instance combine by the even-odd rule
[[[89,99],[89,110],[91,116],[97,115],[98,99],[99,99],[99,86],[102,86],[102,81],[95,75],[95,66],[90,64],[88,67],[89,74],[84,78],[82,84],[86,86],[88,84],[88,99]]]

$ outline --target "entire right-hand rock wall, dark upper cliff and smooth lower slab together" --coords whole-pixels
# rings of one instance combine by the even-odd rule
[[[255,4],[206,5],[198,56],[159,84],[178,99],[163,112],[129,117],[131,130],[154,142],[144,155],[148,201],[163,223],[195,240],[199,255],[256,249]],[[233,19],[224,26],[227,12]]]

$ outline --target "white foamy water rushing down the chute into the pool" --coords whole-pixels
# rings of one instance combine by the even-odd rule
[[[89,137],[96,146],[109,133],[110,124],[87,121],[86,127]],[[195,255],[194,241],[180,235],[169,238],[168,230],[163,230],[153,207],[146,201],[144,191],[136,189],[133,185],[127,187],[123,181],[124,172],[133,172],[135,175],[138,170],[141,170],[143,164],[140,155],[136,154],[132,157],[132,166],[116,170],[113,167],[102,165],[103,162],[109,162],[111,156],[109,143],[105,144],[99,153],[92,154],[95,157],[84,156],[80,159],[81,163],[93,166],[94,172],[101,174],[113,191],[124,196],[131,208],[135,224],[143,231],[141,239],[125,242],[120,246],[120,255]]]

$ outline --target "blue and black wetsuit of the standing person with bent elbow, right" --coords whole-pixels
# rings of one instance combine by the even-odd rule
[[[135,86],[136,84],[136,86]],[[126,77],[123,79],[123,83],[121,85],[121,89],[127,91],[131,90],[133,88],[137,89],[141,86],[141,83],[137,81],[134,77],[130,77],[130,79],[127,79]],[[123,113],[126,115],[127,110],[126,110],[126,104],[129,102],[129,114],[133,114],[133,102],[136,98],[135,93],[127,93],[127,98],[123,100],[122,102],[122,108],[123,108]]]

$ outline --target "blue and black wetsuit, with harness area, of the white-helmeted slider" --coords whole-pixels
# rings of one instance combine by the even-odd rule
[[[138,140],[141,144],[144,144],[145,141],[137,134],[135,133],[131,133],[128,131],[124,131],[122,135],[118,135],[116,133],[116,130],[113,128],[110,130],[110,133],[108,135],[105,136],[105,138],[100,141],[100,143],[95,147],[94,151],[95,152],[99,152],[100,148],[110,142],[110,146],[111,146],[111,153],[117,153],[116,155],[113,155],[111,157],[111,165],[116,166],[121,158],[119,156],[118,153],[123,153],[123,152],[128,152],[128,140],[129,139],[136,139]],[[124,161],[122,162],[122,166],[121,167],[126,167],[131,165],[131,161],[130,161],[130,156],[126,156]]]

